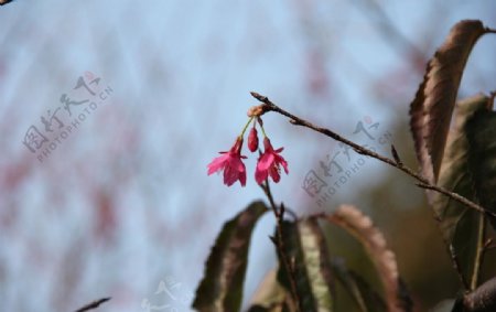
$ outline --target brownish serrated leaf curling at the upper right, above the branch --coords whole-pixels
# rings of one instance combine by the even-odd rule
[[[481,21],[456,23],[429,61],[423,82],[410,105],[410,128],[422,174],[435,184],[460,82],[476,41],[488,32]],[[428,195],[431,196],[431,191]],[[430,198],[431,200],[431,198]]]

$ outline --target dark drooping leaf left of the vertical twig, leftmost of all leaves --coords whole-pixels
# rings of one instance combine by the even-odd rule
[[[255,202],[224,225],[196,290],[193,308],[197,311],[239,311],[251,233],[267,211],[262,202]]]

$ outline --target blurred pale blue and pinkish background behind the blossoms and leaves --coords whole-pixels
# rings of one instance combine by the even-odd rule
[[[74,311],[112,297],[98,311],[191,311],[222,225],[263,198],[247,150],[246,187],[206,174],[257,105],[249,92],[382,153],[395,143],[416,168],[408,106],[427,60],[462,19],[495,28],[496,2],[0,7],[2,309]],[[495,51],[493,36],[477,43],[461,97],[496,88]],[[356,204],[397,252],[416,311],[456,294],[433,215],[411,179],[281,116],[263,121],[289,162],[272,187],[278,202],[299,215]],[[306,187],[315,176],[323,189]],[[276,263],[273,222],[267,215],[257,226],[245,302]],[[353,240],[333,229],[330,240],[334,256],[360,270]]]

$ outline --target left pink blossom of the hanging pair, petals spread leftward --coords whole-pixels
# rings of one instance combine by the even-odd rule
[[[234,146],[228,152],[220,152],[222,155],[215,158],[208,166],[208,175],[214,172],[224,170],[224,184],[227,186],[233,185],[239,180],[241,186],[246,185],[246,168],[241,159],[246,157],[241,155],[242,138],[237,138]]]

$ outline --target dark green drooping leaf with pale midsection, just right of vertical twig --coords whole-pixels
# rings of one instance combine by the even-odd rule
[[[292,292],[290,276],[295,281],[300,311],[333,311],[332,269],[322,229],[314,217],[281,224],[284,256],[291,272],[279,255],[278,280]],[[278,235],[276,233],[276,235]],[[279,252],[278,252],[279,254]]]

